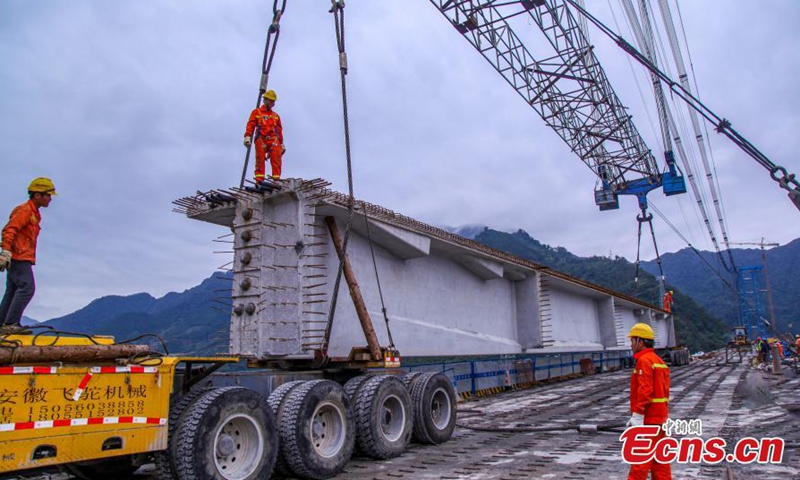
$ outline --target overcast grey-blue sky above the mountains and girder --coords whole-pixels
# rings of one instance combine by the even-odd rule
[[[0,0],[0,215],[25,201],[34,177],[51,177],[59,191],[43,211],[27,315],[49,319],[109,294],[181,291],[228,261],[212,254],[224,249],[211,242],[224,229],[172,213],[171,201],[238,184],[271,6]],[[284,176],[346,191],[329,6],[288,1],[270,86],[285,129]],[[587,7],[616,29],[607,2]],[[681,9],[702,99],[800,174],[800,3]],[[599,212],[592,172],[430,2],[349,0],[346,22],[359,198],[435,225],[522,228],[579,255],[635,258],[635,200]],[[590,36],[661,158],[657,120],[626,57],[596,29]],[[798,212],[768,173],[726,139],[711,141],[732,240],[800,236]],[[651,198],[711,248],[690,195]],[[662,252],[685,247],[657,220]],[[652,258],[651,246],[643,256]]]

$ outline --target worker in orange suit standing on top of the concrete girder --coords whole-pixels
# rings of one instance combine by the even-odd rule
[[[250,148],[253,141],[256,144],[256,185],[265,180],[265,163],[269,155],[272,167],[272,178],[281,178],[281,165],[286,146],[283,144],[283,126],[281,117],[272,108],[278,95],[274,90],[264,92],[264,104],[250,113],[247,128],[244,131],[244,146]],[[254,136],[255,135],[255,136]]]

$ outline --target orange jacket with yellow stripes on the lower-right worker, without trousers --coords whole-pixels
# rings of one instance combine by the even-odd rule
[[[647,425],[660,425],[669,417],[669,367],[652,348],[635,354],[631,375],[631,412],[644,415]]]

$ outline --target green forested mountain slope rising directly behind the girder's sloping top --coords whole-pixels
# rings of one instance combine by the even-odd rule
[[[659,303],[656,278],[640,271],[639,285],[635,288],[636,267],[624,258],[578,257],[562,247],[544,245],[523,230],[504,233],[487,228],[475,240],[651,304]],[[674,298],[675,334],[679,343],[692,351],[712,350],[725,344],[729,337],[725,322],[710,315],[679,289],[675,289]]]

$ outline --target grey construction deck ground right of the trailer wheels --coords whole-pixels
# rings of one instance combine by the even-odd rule
[[[717,355],[673,368],[670,417],[701,419],[702,436],[723,437],[729,452],[743,437],[781,437],[787,445],[782,463],[673,464],[673,478],[800,478],[800,375],[791,368],[780,375],[765,372],[747,360],[726,364]],[[619,370],[463,402],[451,441],[412,444],[404,455],[387,461],[356,456],[336,478],[625,479],[628,466],[622,462],[618,432],[525,430],[624,423],[630,415],[630,374]],[[137,476],[147,479],[149,471],[143,466]]]

